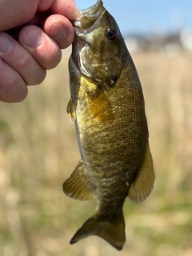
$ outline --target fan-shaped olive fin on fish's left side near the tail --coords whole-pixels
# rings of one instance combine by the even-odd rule
[[[86,170],[82,166],[82,161],[78,162],[78,166],[70,175],[70,178],[64,182],[62,190],[70,198],[79,200],[90,200],[94,198],[94,191],[90,187],[90,182]]]

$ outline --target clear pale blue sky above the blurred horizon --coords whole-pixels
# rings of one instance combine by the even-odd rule
[[[75,0],[78,9],[96,0]],[[192,27],[192,0],[102,0],[114,16],[122,34],[169,33]]]

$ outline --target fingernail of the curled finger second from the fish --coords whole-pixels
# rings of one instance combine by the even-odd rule
[[[38,48],[42,45],[42,34],[38,30],[32,30],[29,33],[26,34],[26,37],[24,38],[24,43],[26,46],[29,46],[30,48]]]

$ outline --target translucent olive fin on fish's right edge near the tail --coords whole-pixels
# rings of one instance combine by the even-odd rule
[[[141,169],[134,182],[130,184],[129,198],[134,202],[145,200],[154,187],[154,165],[150,154],[149,142],[146,143],[146,153],[143,158]]]

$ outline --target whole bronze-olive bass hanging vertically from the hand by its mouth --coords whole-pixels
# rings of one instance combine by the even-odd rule
[[[126,242],[122,207],[154,187],[142,86],[117,22],[101,0],[72,21],[70,102],[81,160],[62,189],[70,198],[97,198],[71,244],[97,235],[117,250]]]

